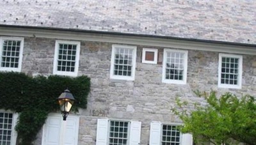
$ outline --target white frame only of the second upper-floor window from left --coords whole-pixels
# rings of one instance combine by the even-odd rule
[[[58,55],[59,55],[59,47],[60,44],[70,44],[70,45],[77,45],[76,46],[76,63],[75,63],[75,69],[74,72],[63,72],[58,71]],[[53,74],[54,75],[68,75],[76,77],[78,73],[78,67],[79,67],[79,56],[80,56],[80,42],[73,42],[73,41],[64,41],[64,40],[56,40],[55,42],[55,51],[54,51],[54,63],[53,63]]]

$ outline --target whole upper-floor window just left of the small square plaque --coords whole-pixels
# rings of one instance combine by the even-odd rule
[[[134,80],[136,66],[136,47],[113,45],[111,55],[110,79]]]

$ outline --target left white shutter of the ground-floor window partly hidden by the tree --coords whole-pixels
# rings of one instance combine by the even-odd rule
[[[160,137],[161,137],[161,123],[160,122],[150,123],[149,145],[160,145]]]

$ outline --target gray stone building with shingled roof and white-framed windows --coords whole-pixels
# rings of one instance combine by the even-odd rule
[[[65,144],[189,145],[171,111],[176,97],[202,102],[196,89],[256,95],[253,1],[0,4],[0,71],[91,78],[88,108],[68,116]],[[15,144],[8,114],[0,111],[0,125],[13,120],[10,137],[0,128],[0,144]],[[59,144],[61,121],[49,114],[34,143]]]

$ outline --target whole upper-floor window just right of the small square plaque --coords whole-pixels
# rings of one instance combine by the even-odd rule
[[[162,82],[186,84],[188,51],[164,49]]]

